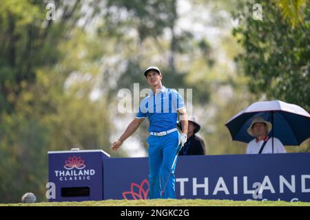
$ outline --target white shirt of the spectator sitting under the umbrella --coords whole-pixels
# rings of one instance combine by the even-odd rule
[[[260,147],[262,146],[262,144],[264,144],[264,142],[265,142],[264,140],[256,142],[256,138],[254,138],[254,140],[251,140],[251,142],[247,144],[247,154],[255,154],[255,153],[258,154],[260,152]],[[272,153],[271,138],[267,140],[267,143],[264,149],[262,150],[262,153]],[[287,151],[285,151],[285,147],[283,146],[283,144],[276,137],[273,137],[273,153],[287,153]]]

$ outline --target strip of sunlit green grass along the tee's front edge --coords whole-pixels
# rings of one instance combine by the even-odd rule
[[[310,206],[310,202],[231,201],[208,199],[104,200],[81,202],[8,203],[0,206]]]

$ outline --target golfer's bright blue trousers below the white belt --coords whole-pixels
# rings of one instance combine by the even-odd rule
[[[178,136],[178,131],[174,131],[164,136],[149,135],[147,138],[149,143],[149,199],[161,198],[161,191],[165,188],[178,150]],[[168,179],[163,199],[175,198],[175,168],[176,163]]]

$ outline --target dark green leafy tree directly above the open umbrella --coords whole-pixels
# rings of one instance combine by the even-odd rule
[[[277,1],[289,7],[287,1]],[[290,1],[294,2],[294,1]],[[266,94],[268,99],[278,99],[298,104],[310,110],[310,7],[309,2],[296,6],[298,13],[303,10],[304,20],[296,28],[291,27],[275,1],[262,2],[262,21],[251,17],[254,1],[239,3],[240,23],[234,30],[245,52],[238,61],[246,76],[249,88],[254,94]],[[287,16],[288,17],[288,16]],[[287,18],[285,17],[285,18]],[[291,19],[292,23],[296,23]]]

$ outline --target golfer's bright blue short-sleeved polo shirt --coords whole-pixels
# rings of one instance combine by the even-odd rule
[[[157,94],[151,90],[149,96],[143,98],[136,118],[148,118],[149,132],[168,131],[176,128],[177,110],[185,107],[182,96],[176,90],[163,86]]]

